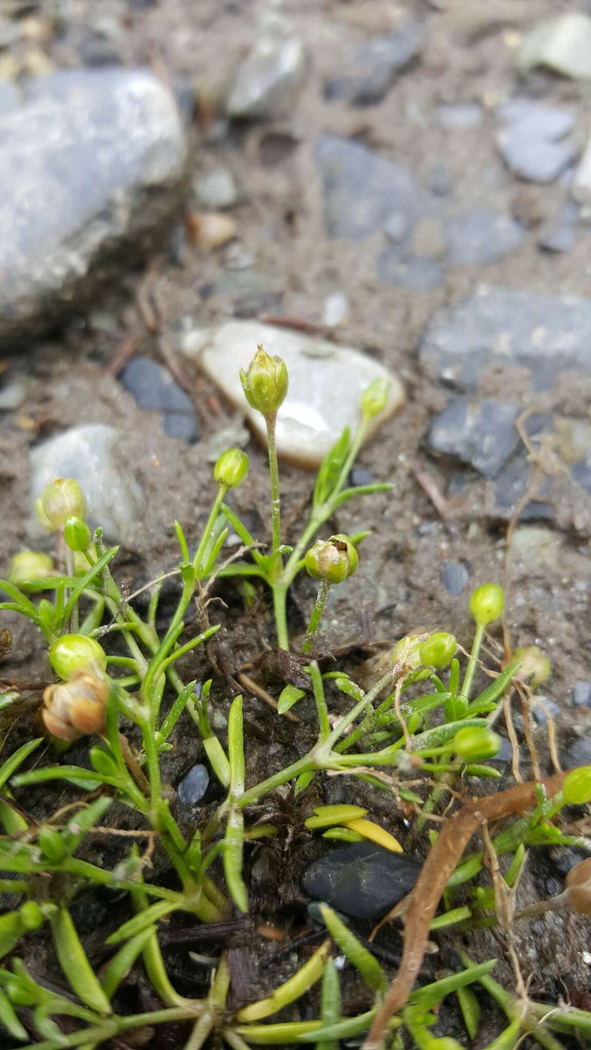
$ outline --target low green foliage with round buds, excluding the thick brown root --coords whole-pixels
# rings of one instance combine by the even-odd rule
[[[263,414],[267,425],[271,487],[268,551],[225,502],[227,494],[242,484],[248,472],[245,454],[228,449],[213,471],[217,491],[201,537],[191,545],[182,525],[176,523],[180,594],[163,632],[156,626],[162,580],[154,583],[149,607],[142,617],[113,574],[118,548],[105,549],[100,529],[90,537],[82,492],[72,479],[58,479],[39,505],[42,522],[57,532],[65,551],[64,566],[56,567],[48,555],[28,551],[15,556],[9,579],[0,581],[7,596],[0,608],[17,611],[39,627],[49,664],[60,679],[45,690],[42,709],[46,730],[54,742],[61,741],[56,760],[23,769],[42,742],[42,738],[36,738],[0,766],[0,889],[21,897],[18,907],[0,917],[0,958],[5,960],[5,966],[0,968],[0,1025],[17,1042],[33,1040],[28,1045],[37,1050],[90,1050],[111,1038],[123,1038],[134,1029],[172,1021],[192,1022],[185,1050],[199,1050],[212,1033],[218,1042],[222,1040],[235,1050],[300,1044],[331,1050],[340,1040],[367,1031],[388,980],[371,950],[327,905],[320,909],[327,930],[321,946],[289,980],[235,1013],[227,1006],[230,978],[225,956],[219,960],[207,998],[189,1000],[175,989],[159,944],[159,922],[178,911],[204,923],[223,920],[232,907],[248,911],[245,849],[262,835],[278,834],[277,826],[260,821],[257,807],[285,784],[292,784],[294,804],[304,807],[306,789],[318,774],[339,773],[363,779],[376,791],[389,792],[396,803],[413,806],[420,830],[430,814],[437,816],[441,802],[448,801],[450,790],[461,778],[493,781],[500,776],[494,765],[487,764],[501,743],[492,726],[519,660],[491,675],[487,688],[472,696],[485,630],[503,612],[504,594],[497,585],[484,584],[471,596],[475,631],[463,680],[455,657],[456,642],[447,631],[398,640],[381,677],[367,691],[345,670],[334,670],[333,665],[331,670],[321,670],[322,653],[315,647],[329,589],[342,586],[354,573],[358,548],[367,533],[338,533],[312,541],[344,503],[390,487],[347,487],[367,426],[384,408],[387,390],[378,383],[364,394],[358,433],[351,437],[345,430],[326,457],[315,480],[308,521],[294,545],[287,546],[281,532],[274,441],[277,414],[287,392],[287,371],[284,362],[270,358],[260,348],[242,374],[242,381],[250,405]],[[224,559],[230,528],[243,546],[237,558]],[[221,630],[220,624],[209,624],[204,601],[216,576],[258,578],[266,584],[272,593],[278,647],[294,649],[287,631],[286,595],[304,568],[320,581],[308,629],[299,646],[305,685],[285,686],[279,695],[277,717],[285,717],[309,696],[315,705],[318,736],[294,762],[263,781],[252,782],[245,757],[242,696],[232,700],[225,746],[212,729],[215,719],[209,717],[216,687],[207,680],[196,692],[197,682],[183,679],[178,660]],[[42,596],[37,601],[36,595]],[[181,642],[193,623],[195,603],[199,628],[189,640]],[[119,654],[110,651],[110,635],[116,632],[127,648],[125,656],[119,650]],[[531,654],[527,658],[528,668],[531,665],[528,675],[543,680],[547,669]],[[444,682],[440,673],[446,669],[449,675]],[[0,711],[16,708],[19,699],[18,690],[6,690],[0,696]],[[184,732],[192,723],[192,731],[201,737],[209,765],[225,793],[206,826],[193,827],[188,837],[175,819],[161,774],[161,756],[171,748],[180,719],[184,719]],[[121,732],[123,720],[131,722],[141,737],[137,753]],[[67,760],[68,742],[83,736],[88,737],[89,768]],[[425,799],[414,788],[417,781],[433,778],[435,786]],[[19,791],[30,785],[42,791],[50,780],[74,785],[80,793],[79,802],[68,806],[67,813],[49,815],[39,824],[19,806]],[[590,798],[591,771],[571,773],[558,795],[547,798],[541,791],[532,813],[496,832],[492,838],[495,856],[513,854],[505,877],[507,887],[517,878],[529,845],[580,841],[563,834],[556,818],[564,805],[585,804]],[[166,850],[171,870],[166,885],[145,881],[146,858],[137,844],[113,870],[78,855],[86,837],[104,823],[115,799],[135,811],[146,835],[158,838]],[[317,807],[313,817],[306,820],[303,816],[302,824],[310,834],[319,832],[349,842],[370,838],[390,849],[401,848],[385,828],[367,817],[371,814],[355,805],[322,806]],[[432,835],[436,838],[436,833]],[[221,858],[223,870],[223,880],[218,881],[211,875],[217,858]],[[485,862],[482,850],[464,859],[458,855],[446,890],[445,908],[432,920],[432,930],[449,926],[470,930],[498,922],[496,897],[487,887],[476,887],[469,904],[453,901],[455,886],[473,879]],[[69,910],[73,894],[93,884],[128,892],[135,912],[106,939],[113,953],[100,974],[87,959]],[[588,914],[586,886],[585,879],[576,887],[573,883],[569,898],[569,906],[583,914]],[[66,994],[36,980],[20,958],[21,939],[43,928],[53,939]],[[347,958],[370,989],[373,1006],[369,1011],[343,1016],[339,971],[333,962],[337,952]],[[128,1014],[119,991],[140,964],[162,1008]],[[493,960],[474,966],[466,958],[463,969],[415,989],[402,1011],[389,1020],[384,1037],[400,1048],[401,1033],[406,1030],[420,1050],[456,1050],[460,1044],[455,1040],[432,1034],[436,1010],[445,996],[456,994],[468,1036],[473,1038],[480,1006],[470,986],[476,982],[502,1006],[509,1022],[488,1050],[514,1046],[528,1032],[535,1032],[543,1046],[554,1048],[559,1044],[553,1032],[591,1033],[591,1014],[582,1010],[529,1003],[524,1011],[515,998],[490,976],[493,966]],[[319,982],[322,995],[318,1020],[267,1021]],[[67,1028],[59,1024],[62,1017],[73,1018]]]

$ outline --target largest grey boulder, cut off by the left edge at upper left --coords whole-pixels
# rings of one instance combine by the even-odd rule
[[[84,306],[177,208],[187,146],[144,69],[62,69],[0,110],[0,344]]]

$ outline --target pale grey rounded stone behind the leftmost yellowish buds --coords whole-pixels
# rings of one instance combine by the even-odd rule
[[[109,542],[130,543],[144,512],[144,495],[124,457],[122,434],[102,423],[75,426],[30,453],[30,540],[46,537],[35,502],[56,478],[74,478],[86,500],[90,529],[101,526]]]

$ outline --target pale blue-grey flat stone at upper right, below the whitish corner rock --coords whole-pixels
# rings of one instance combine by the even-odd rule
[[[575,126],[575,113],[528,99],[500,109],[506,126],[496,136],[505,163],[521,178],[551,183],[574,161],[577,146],[565,138]]]

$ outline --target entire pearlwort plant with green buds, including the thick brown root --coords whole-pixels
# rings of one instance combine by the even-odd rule
[[[58,563],[44,553],[23,552],[15,556],[9,579],[0,582],[6,595],[1,608],[20,613],[39,628],[57,678],[44,689],[41,707],[48,741],[37,736],[24,742],[0,766],[0,889],[15,902],[0,916],[1,1025],[15,1045],[28,1041],[38,1050],[150,1045],[159,1025],[172,1024],[181,1025],[178,1045],[185,1050],[198,1050],[209,1040],[236,1050],[307,1043],[330,1050],[340,1040],[364,1035],[367,1048],[402,1048],[411,1041],[420,1050],[451,1050],[461,1046],[455,1038],[433,1034],[439,1007],[446,996],[456,995],[468,1036],[474,1038],[480,1005],[471,986],[480,983],[507,1018],[488,1050],[515,1046],[532,1033],[550,1050],[562,1046],[556,1033],[589,1041],[591,1013],[563,1003],[532,1002],[523,981],[519,984],[518,967],[516,991],[507,991],[490,976],[494,959],[474,964],[465,957],[455,971],[414,987],[430,936],[443,936],[437,930],[496,929],[513,958],[513,922],[551,908],[579,916],[591,912],[591,861],[574,867],[564,894],[552,900],[532,902],[518,911],[512,892],[531,846],[589,845],[583,835],[563,826],[563,811],[591,800],[591,769],[544,779],[534,766],[534,781],[494,791],[501,776],[490,764],[501,747],[496,718],[513,689],[535,688],[544,680],[548,668],[542,667],[543,654],[534,647],[515,653],[516,658],[497,672],[488,672],[489,684],[473,695],[487,630],[504,608],[503,589],[491,583],[477,587],[470,598],[475,629],[463,676],[455,637],[447,630],[409,635],[395,644],[392,639],[382,673],[368,689],[345,667],[337,667],[331,654],[319,648],[319,626],[331,588],[354,586],[348,580],[363,559],[362,542],[368,533],[328,534],[328,522],[350,500],[390,488],[347,483],[368,424],[386,404],[387,387],[375,382],[363,395],[359,428],[354,435],[346,429],[325,458],[307,521],[290,545],[285,542],[290,537],[283,534],[276,446],[277,416],[288,391],[287,370],[260,346],[241,379],[249,404],[266,423],[268,546],[268,538],[251,536],[226,502],[249,467],[243,452],[228,449],[215,467],[217,489],[201,536],[190,543],[182,525],[175,524],[180,561],[174,574],[180,588],[164,629],[159,618],[164,576],[151,585],[147,613],[141,615],[114,574],[118,548],[105,548],[101,529],[90,536],[84,498],[72,479],[49,485],[38,507],[41,521],[56,534]],[[230,528],[241,547],[226,556]],[[319,536],[321,530],[325,534]],[[286,598],[304,569],[319,581],[319,589],[307,630],[297,638],[288,633]],[[185,681],[179,673],[179,660],[198,647],[205,650],[222,630],[220,623],[209,622],[215,609],[210,597],[222,578],[259,580],[271,592],[277,649],[284,657],[283,665],[273,666],[288,669],[273,717],[293,718],[292,709],[304,697],[312,698],[315,709],[318,731],[311,746],[302,735],[294,760],[262,780],[249,765],[243,697],[235,695],[227,734],[221,737],[220,719],[213,716],[226,680],[208,678],[198,689],[196,680]],[[189,639],[182,640],[187,633]],[[253,666],[263,664],[264,657]],[[297,677],[297,684],[290,677]],[[29,701],[18,684],[2,688],[0,713],[7,726]],[[272,695],[270,699],[276,701]],[[195,819],[188,831],[175,815],[162,774],[162,758],[175,747],[179,731],[201,739],[223,798],[202,819]],[[68,750],[82,740],[85,764],[68,761]],[[41,746],[46,750],[47,743],[53,749],[49,764],[36,765]],[[77,753],[81,754],[80,744]],[[392,828],[401,826],[404,832],[403,818],[410,828],[404,832],[407,848],[416,844],[419,849],[427,825],[433,825],[431,852],[416,885],[396,907],[396,917],[390,917],[404,918],[406,929],[393,982],[378,948],[322,904],[320,945],[302,956],[301,965],[286,980],[269,978],[262,998],[237,1005],[231,956],[225,951],[213,960],[205,957],[211,970],[208,992],[195,999],[182,994],[165,963],[163,931],[170,928],[175,914],[185,914],[205,931],[231,929],[232,911],[249,912],[245,861],[250,852],[261,838],[277,839],[289,849],[285,827],[272,823],[265,810],[274,798],[285,801],[286,789],[290,835],[297,827],[300,836],[372,841],[390,853],[402,853],[403,835],[392,835],[367,807],[352,802],[310,804],[318,799],[313,792],[325,782],[321,778],[330,776],[347,778],[351,784],[362,780],[376,795],[386,793]],[[54,780],[70,785],[75,800],[38,819],[23,804],[30,797],[23,790],[35,789],[41,797],[44,785]],[[487,783],[492,789],[488,793]],[[133,816],[133,828],[105,825],[109,812],[121,807]],[[85,853],[95,835],[127,836],[133,844],[123,860],[108,868]],[[473,852],[464,858],[478,835]],[[157,846],[167,862],[159,864],[160,878],[152,880]],[[511,860],[502,874],[498,858],[506,856]],[[474,886],[467,898],[457,887],[483,870],[489,873],[492,885]],[[119,894],[129,916],[103,939],[100,951],[96,946],[86,950],[72,916],[77,898],[93,886]],[[27,938],[36,931],[45,931],[52,941],[53,968],[61,971],[58,984],[32,972],[22,959],[28,951]],[[312,945],[317,933],[311,936]],[[276,929],[273,936],[288,934]],[[343,1007],[338,957],[348,961],[365,985],[361,1012]],[[199,957],[201,965],[203,958]],[[149,1008],[145,996],[142,1001],[130,992],[142,972],[149,983]],[[317,984],[318,999],[308,994]],[[312,1004],[312,1020],[309,1009],[308,1020],[298,1020],[294,1004],[303,996]],[[142,1008],[134,1009],[142,1002]],[[290,1012],[272,1020],[284,1010]],[[134,1032],[135,1036],[127,1034]]]

